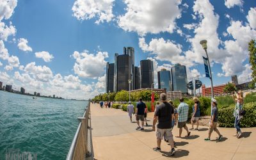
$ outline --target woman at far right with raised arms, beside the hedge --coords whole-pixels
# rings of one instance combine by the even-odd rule
[[[238,93],[236,93],[236,107],[234,109],[234,116],[235,116],[235,123],[234,126],[236,128],[236,134],[234,134],[234,136],[236,136],[237,138],[240,138],[242,135],[241,132],[241,128],[240,128],[240,120],[241,118],[243,118],[243,115],[240,115],[239,113],[242,111],[243,109],[243,92],[241,90],[239,90]]]

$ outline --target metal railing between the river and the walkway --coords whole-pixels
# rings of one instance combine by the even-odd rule
[[[67,160],[93,159],[92,124],[90,102],[83,117],[78,117],[79,125],[68,151]]]

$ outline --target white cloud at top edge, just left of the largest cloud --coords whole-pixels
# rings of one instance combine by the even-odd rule
[[[97,18],[97,24],[104,20],[109,22],[114,17],[113,2],[114,0],[77,0],[72,7],[73,16],[78,20]]]

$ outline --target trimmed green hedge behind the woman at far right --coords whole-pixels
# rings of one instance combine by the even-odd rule
[[[219,124],[220,127],[234,127],[235,117],[233,116],[235,106],[219,109]],[[243,109],[246,114],[241,119],[241,127],[255,127],[256,126],[256,102],[244,104]]]

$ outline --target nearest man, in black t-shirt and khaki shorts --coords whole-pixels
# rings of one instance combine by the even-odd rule
[[[157,147],[153,148],[155,151],[161,151],[161,140],[168,140],[171,150],[170,155],[174,156],[174,141],[172,134],[172,119],[174,117],[173,106],[166,102],[167,96],[165,93],[161,93],[160,99],[163,102],[160,104],[155,112],[154,120],[153,120],[153,131],[156,131],[156,139],[157,139]],[[157,129],[155,127],[156,122],[158,120]]]

